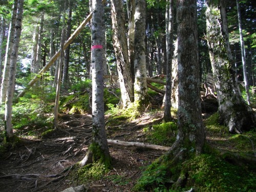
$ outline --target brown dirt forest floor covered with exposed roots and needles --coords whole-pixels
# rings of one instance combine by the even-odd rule
[[[208,114],[209,115],[209,114]],[[207,116],[208,116],[207,115]],[[143,128],[161,122],[162,111],[115,127],[106,126],[108,138],[143,142]],[[108,117],[106,117],[108,120]],[[77,186],[76,175],[65,168],[82,160],[90,143],[92,118],[90,115],[66,116],[59,122],[60,129],[47,137],[28,136],[29,128],[17,132],[22,142],[0,160],[0,191],[62,191]],[[37,130],[40,135],[46,128]],[[220,149],[233,150],[220,133],[207,133],[207,142]],[[220,144],[222,143],[222,144]],[[142,168],[164,152],[139,147],[109,145],[113,169],[99,180],[84,183],[90,191],[131,191],[141,176]]]

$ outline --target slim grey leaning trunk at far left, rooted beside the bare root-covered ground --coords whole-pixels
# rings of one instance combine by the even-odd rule
[[[8,84],[6,104],[5,104],[5,130],[6,130],[7,138],[13,137],[12,101],[13,101],[14,88],[15,88],[15,75],[16,75],[19,40],[20,40],[20,34],[22,33],[23,4],[24,4],[24,0],[19,0],[17,4],[17,19],[15,24],[15,33],[14,33],[12,55],[11,55],[11,62],[10,62],[9,84]]]

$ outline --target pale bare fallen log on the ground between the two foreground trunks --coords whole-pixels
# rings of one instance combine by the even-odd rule
[[[120,141],[120,140],[114,140],[114,139],[108,139],[107,141],[108,141],[108,144],[127,146],[127,147],[152,148],[153,150],[160,150],[160,151],[168,151],[170,149],[170,147],[168,146],[154,145],[154,144],[148,144],[148,143],[127,142],[127,141]]]

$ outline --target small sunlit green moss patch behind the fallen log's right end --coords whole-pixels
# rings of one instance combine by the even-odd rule
[[[177,125],[175,122],[166,122],[146,127],[143,131],[147,133],[148,142],[170,146],[176,140]]]

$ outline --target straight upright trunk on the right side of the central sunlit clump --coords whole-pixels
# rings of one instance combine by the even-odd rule
[[[139,104],[140,107],[148,104],[145,58],[145,0],[136,0],[135,2],[134,102]]]

